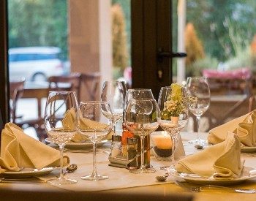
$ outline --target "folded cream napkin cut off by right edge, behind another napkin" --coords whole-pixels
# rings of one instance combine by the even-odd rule
[[[224,141],[229,131],[237,134],[243,145],[256,146],[256,110],[211,129],[208,143],[217,144]]]

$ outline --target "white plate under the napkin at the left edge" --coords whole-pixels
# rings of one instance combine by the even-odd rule
[[[27,178],[27,177],[38,177],[42,175],[47,175],[51,171],[55,170],[57,167],[45,167],[41,170],[33,169],[33,168],[23,168],[19,172],[3,172],[2,176],[8,178]]]

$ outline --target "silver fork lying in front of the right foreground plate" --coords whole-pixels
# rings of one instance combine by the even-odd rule
[[[188,183],[184,183],[181,181],[175,181],[178,186],[183,187],[191,192],[200,192],[200,191],[229,191],[229,192],[237,192],[237,193],[247,193],[247,194],[254,194],[256,193],[255,189],[237,189],[231,188],[227,186],[217,186],[217,185],[203,185],[203,186],[191,186]]]

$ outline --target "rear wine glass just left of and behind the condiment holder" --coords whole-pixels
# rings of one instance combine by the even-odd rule
[[[121,81],[105,81],[102,86],[101,101],[108,102],[113,113],[113,131],[116,134],[116,123],[124,113],[124,101],[127,88]],[[112,119],[112,117],[110,117]]]

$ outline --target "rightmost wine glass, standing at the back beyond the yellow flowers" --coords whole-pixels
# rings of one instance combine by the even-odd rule
[[[187,96],[189,99],[189,111],[195,115],[197,121],[197,140],[189,141],[195,146],[204,146],[208,142],[201,140],[199,136],[200,117],[210,106],[210,88],[206,77],[187,78]]]

